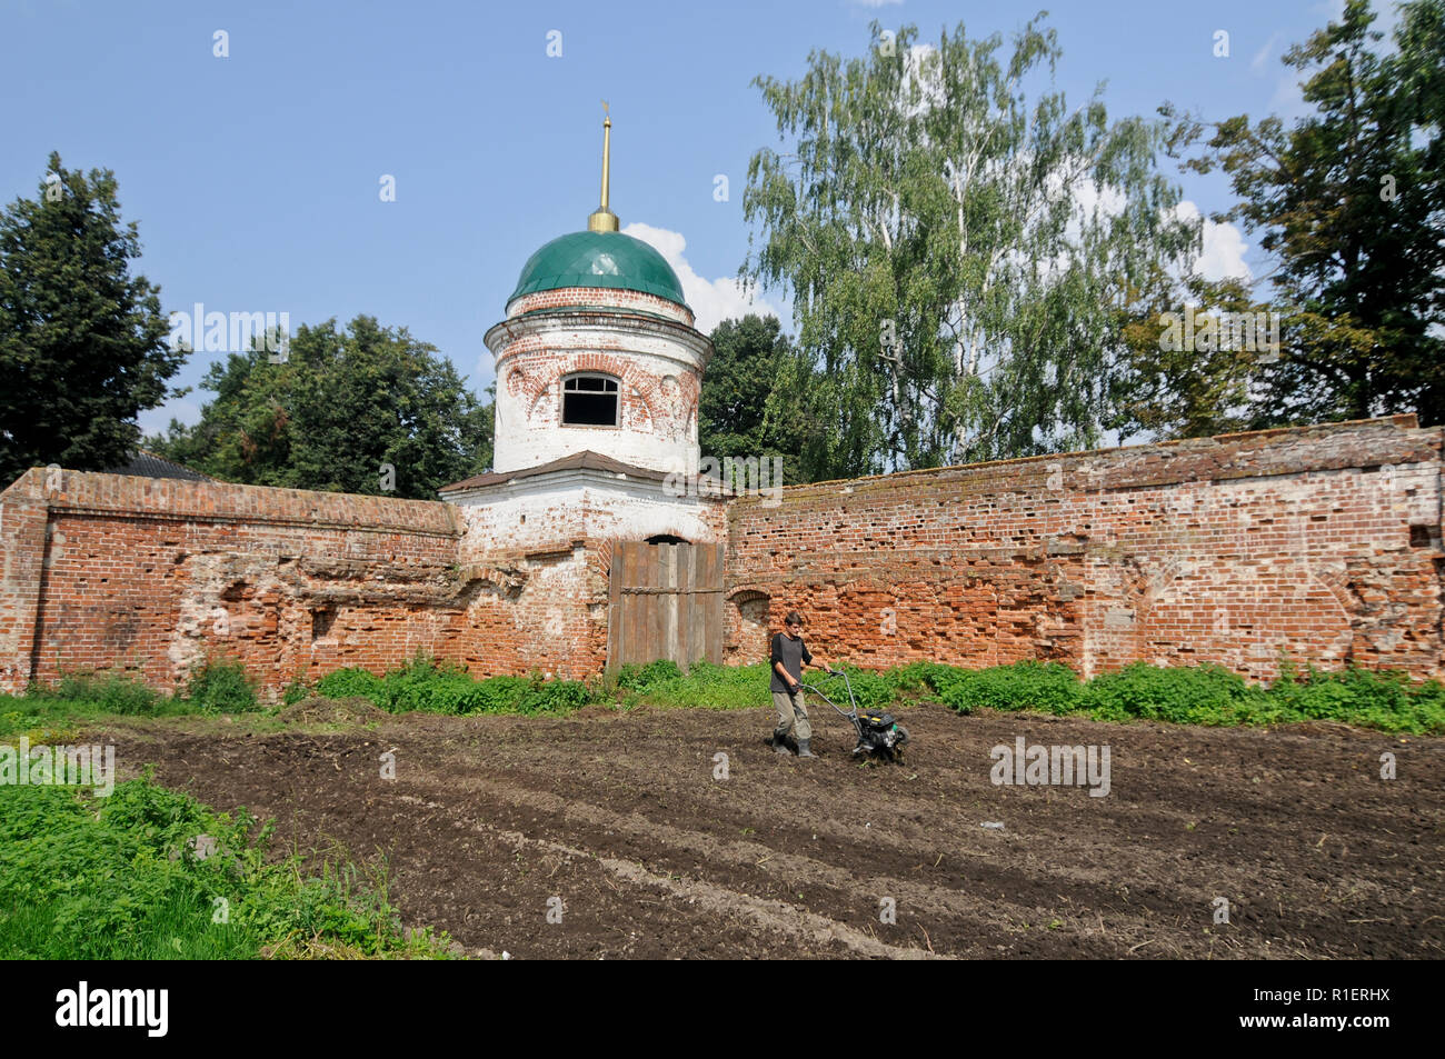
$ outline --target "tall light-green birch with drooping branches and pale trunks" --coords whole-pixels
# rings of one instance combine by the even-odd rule
[[[741,275],[793,293],[816,472],[1095,445],[1118,309],[1199,244],[1156,170],[1165,123],[1111,123],[1101,90],[1027,103],[1061,58],[1039,19],[1012,53],[962,25],[871,33],[754,81],[792,149],[749,166]]]

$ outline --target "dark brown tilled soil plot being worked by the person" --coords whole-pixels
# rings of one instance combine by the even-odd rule
[[[406,922],[470,955],[1445,955],[1445,740],[920,705],[899,714],[906,764],[870,766],[837,717],[816,718],[814,761],[764,745],[767,711],[290,717],[107,738],[123,774],[153,761],[276,818],[288,847],[384,855]],[[990,750],[1017,735],[1107,744],[1108,796],[994,786]]]

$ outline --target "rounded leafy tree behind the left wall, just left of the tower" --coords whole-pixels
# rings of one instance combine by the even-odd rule
[[[491,464],[491,406],[406,328],[302,325],[280,363],[253,347],[211,366],[215,400],[156,452],[228,481],[413,500]]]

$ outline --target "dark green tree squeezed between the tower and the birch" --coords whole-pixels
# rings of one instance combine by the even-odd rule
[[[782,457],[783,481],[808,481],[803,449],[816,429],[793,400],[806,386],[786,386],[796,360],[776,316],[725,319],[711,334],[712,360],[702,374],[698,445],[704,457]]]

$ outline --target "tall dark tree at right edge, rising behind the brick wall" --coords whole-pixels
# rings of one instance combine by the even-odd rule
[[[1415,410],[1445,422],[1445,0],[1399,7],[1392,52],[1367,0],[1292,48],[1314,113],[1176,121],[1170,150],[1221,168],[1259,233],[1283,355],[1257,366],[1251,426]]]

